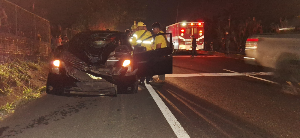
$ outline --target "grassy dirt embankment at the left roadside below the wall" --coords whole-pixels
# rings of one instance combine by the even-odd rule
[[[49,64],[16,60],[0,64],[0,120],[46,90]]]

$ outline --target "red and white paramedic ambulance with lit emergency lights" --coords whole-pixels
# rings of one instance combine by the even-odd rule
[[[175,52],[192,50],[192,35],[197,40],[196,50],[204,47],[204,22],[178,22],[167,26],[166,32],[172,33]]]

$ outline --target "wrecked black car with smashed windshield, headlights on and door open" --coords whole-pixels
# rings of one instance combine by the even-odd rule
[[[171,33],[158,35],[168,35],[172,42]],[[146,40],[153,40],[155,36]],[[78,33],[50,63],[46,93],[134,94],[138,91],[139,77],[172,73],[171,46],[146,51],[141,44],[132,47],[126,34],[119,31]]]

